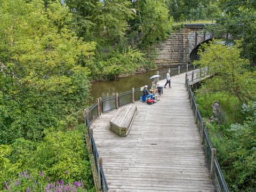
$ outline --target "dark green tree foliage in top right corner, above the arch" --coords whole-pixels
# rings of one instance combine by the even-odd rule
[[[249,59],[252,66],[255,66],[256,37],[252,32],[256,29],[255,2],[223,0],[219,2],[219,6],[224,11],[219,17],[219,25],[209,26],[207,30],[213,31],[216,37],[222,37],[223,34],[228,33],[231,35],[231,40],[243,39],[242,56]]]

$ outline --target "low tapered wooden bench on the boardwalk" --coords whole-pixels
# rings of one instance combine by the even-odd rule
[[[136,113],[136,105],[128,105],[119,108],[114,117],[110,120],[110,130],[121,137],[127,136]]]

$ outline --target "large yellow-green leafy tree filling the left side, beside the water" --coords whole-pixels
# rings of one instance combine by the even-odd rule
[[[0,143],[73,127],[89,97],[95,43],[69,29],[59,1],[3,0],[0,13]]]

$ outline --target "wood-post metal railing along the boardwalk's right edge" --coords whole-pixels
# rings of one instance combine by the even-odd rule
[[[205,69],[203,69],[203,70],[205,70]],[[202,71],[202,72],[204,73],[204,71]],[[197,71],[197,73],[199,73],[199,72]],[[213,179],[215,191],[228,192],[229,190],[228,190],[226,181],[222,175],[222,172],[221,172],[221,169],[220,169],[217,157],[216,157],[216,149],[213,148],[213,146],[212,146],[211,139],[207,133],[206,125],[203,121],[201,112],[197,108],[194,93],[191,90],[191,87],[189,85],[188,76],[190,76],[190,75],[191,75],[191,73],[186,74],[186,87],[187,87],[189,99],[191,102],[191,108],[193,109],[193,112],[195,115],[195,120],[196,120],[196,124],[198,127],[198,131],[201,134],[201,140],[202,140],[202,144],[204,146],[205,156],[207,159],[207,166],[208,166],[209,170],[211,171],[211,178]]]

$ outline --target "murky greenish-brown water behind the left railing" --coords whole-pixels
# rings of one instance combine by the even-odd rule
[[[145,74],[136,74],[129,77],[122,77],[117,81],[93,82],[91,87],[92,100],[90,101],[90,104],[94,103],[96,98],[107,98],[114,95],[116,92],[122,93],[131,90],[132,87],[135,89],[150,84],[152,81],[149,78],[153,75],[156,75],[157,70],[163,71],[167,70],[167,68],[150,70]]]

